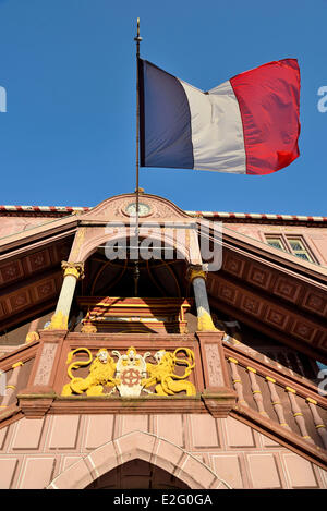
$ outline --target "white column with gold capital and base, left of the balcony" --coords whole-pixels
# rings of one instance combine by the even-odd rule
[[[84,278],[84,263],[62,261],[63,282],[56,312],[48,330],[68,330],[70,311],[78,279]]]

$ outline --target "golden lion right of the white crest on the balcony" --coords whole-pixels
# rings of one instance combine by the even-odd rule
[[[178,358],[177,354],[183,351],[186,353],[187,358]],[[195,366],[194,353],[189,348],[178,348],[173,353],[159,350],[155,354],[157,364],[146,364],[146,372],[148,378],[142,380],[144,388],[156,385],[156,393],[159,396],[173,396],[175,392],[186,391],[186,396],[195,396],[196,389],[191,381],[185,381]],[[183,376],[174,374],[175,365],[185,365]]]

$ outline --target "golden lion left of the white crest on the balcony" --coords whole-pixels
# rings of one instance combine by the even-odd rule
[[[71,396],[72,393],[82,394],[84,391],[86,391],[87,396],[100,396],[104,393],[105,385],[114,387],[120,384],[120,379],[114,378],[114,361],[106,349],[99,350],[93,361],[92,353],[87,348],[77,348],[69,353],[66,363],[69,364],[71,362],[75,353],[83,351],[88,354],[88,360],[76,361],[69,366],[68,374],[71,381],[63,387],[61,396]],[[90,364],[90,367],[86,378],[78,378],[72,375],[72,369],[77,369],[88,364]]]

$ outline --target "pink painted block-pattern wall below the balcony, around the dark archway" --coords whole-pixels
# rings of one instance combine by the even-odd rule
[[[85,487],[133,459],[135,443],[147,452],[140,458],[164,460],[177,477],[191,474],[195,488],[218,479],[232,488],[327,488],[326,471],[232,417],[208,414],[22,418],[0,430],[0,487]]]

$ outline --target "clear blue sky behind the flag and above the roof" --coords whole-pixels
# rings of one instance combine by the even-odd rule
[[[141,53],[202,89],[298,58],[301,156],[270,175],[141,169],[183,209],[327,215],[327,0],[0,0],[0,204],[95,206],[135,188]]]

